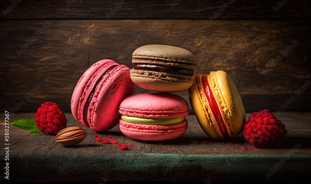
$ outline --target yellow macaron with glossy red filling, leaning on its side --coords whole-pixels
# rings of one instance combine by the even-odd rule
[[[245,109],[231,77],[225,71],[197,74],[188,89],[193,112],[212,139],[235,137],[243,131]]]

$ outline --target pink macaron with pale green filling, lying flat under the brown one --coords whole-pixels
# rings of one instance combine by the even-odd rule
[[[132,139],[172,140],[188,128],[188,103],[176,94],[134,94],[121,102],[119,113],[120,131]]]

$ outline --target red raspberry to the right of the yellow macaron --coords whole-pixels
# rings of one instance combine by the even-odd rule
[[[244,124],[244,138],[256,148],[274,145],[286,134],[285,125],[268,109],[253,112]]]

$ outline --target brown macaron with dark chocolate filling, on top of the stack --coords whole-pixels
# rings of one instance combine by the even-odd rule
[[[132,53],[131,79],[139,87],[156,92],[188,90],[197,68],[196,57],[170,45],[145,45]]]

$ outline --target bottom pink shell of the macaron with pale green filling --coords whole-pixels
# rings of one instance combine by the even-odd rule
[[[174,125],[141,125],[124,122],[120,119],[120,131],[132,139],[137,140],[172,140],[182,136],[188,128],[188,121]]]

